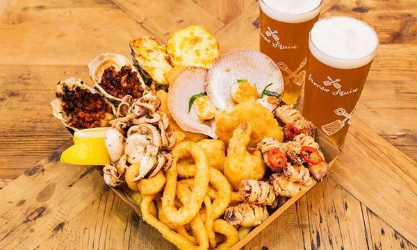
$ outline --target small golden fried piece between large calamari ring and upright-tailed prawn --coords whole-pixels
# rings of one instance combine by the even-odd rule
[[[204,139],[197,142],[202,147],[208,159],[208,165],[223,172],[226,149],[224,142],[216,139]]]

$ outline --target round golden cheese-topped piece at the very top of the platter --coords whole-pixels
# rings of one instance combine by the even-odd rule
[[[174,66],[208,69],[219,56],[219,43],[203,26],[188,26],[172,33],[167,41],[167,52]]]

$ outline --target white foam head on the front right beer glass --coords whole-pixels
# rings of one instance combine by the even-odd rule
[[[377,33],[353,17],[327,17],[314,24],[309,48],[317,60],[339,69],[367,65],[378,47]]]

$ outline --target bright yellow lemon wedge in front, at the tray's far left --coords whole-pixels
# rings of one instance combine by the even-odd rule
[[[76,142],[61,153],[60,161],[73,165],[108,165],[110,156],[103,138],[90,138]]]

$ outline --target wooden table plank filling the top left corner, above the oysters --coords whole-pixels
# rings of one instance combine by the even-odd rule
[[[108,1],[33,2],[8,5],[0,22],[0,65],[87,65],[107,51],[129,56],[129,40],[147,34]]]

